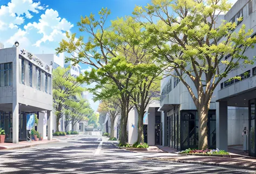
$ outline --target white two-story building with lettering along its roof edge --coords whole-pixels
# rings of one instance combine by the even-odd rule
[[[37,131],[51,140],[52,68],[15,44],[17,47],[0,49],[0,127],[5,130],[5,141],[27,140],[29,113],[37,114]]]

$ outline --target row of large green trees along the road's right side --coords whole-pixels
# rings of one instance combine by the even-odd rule
[[[89,35],[87,41],[67,32],[56,50],[76,52],[66,60],[92,67],[79,81],[97,83],[89,89],[95,100],[119,99],[120,144],[126,143],[131,106],[139,113],[138,142],[144,142],[145,108],[157,96],[163,71],[174,71],[168,75],[180,79],[197,107],[199,149],[206,149],[213,91],[232,70],[254,62],[244,55],[256,43],[250,37],[253,31],[241,25],[235,32],[242,18],[218,21],[230,8],[226,0],[152,0],[145,7],[136,6],[132,16],[111,21],[111,26],[105,26],[110,10],[102,9],[99,17],[90,14],[78,23],[80,35]],[[224,60],[226,55],[231,58]]]

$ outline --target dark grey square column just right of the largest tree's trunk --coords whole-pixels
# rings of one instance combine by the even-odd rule
[[[227,151],[227,102],[219,102],[216,113],[216,147]]]

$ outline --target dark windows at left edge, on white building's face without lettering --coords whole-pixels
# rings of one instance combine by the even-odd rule
[[[12,63],[0,64],[0,86],[12,85]]]

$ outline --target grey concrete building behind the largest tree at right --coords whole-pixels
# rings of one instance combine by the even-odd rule
[[[237,18],[243,17],[243,20],[238,22],[235,32],[245,24],[246,30],[253,29],[251,37],[255,37],[255,10],[255,0],[238,0],[230,11],[219,16],[218,21],[224,19],[235,22]],[[248,49],[245,55],[252,60],[256,50]],[[228,60],[231,57],[226,55],[224,59]],[[236,69],[228,74],[214,91],[208,112],[210,148],[228,150],[228,146],[233,146],[248,150],[250,156],[256,156],[255,75],[255,65]],[[241,76],[241,81],[228,81],[234,76]],[[190,78],[186,78],[185,81],[192,86],[192,90],[196,91]],[[179,82],[178,78],[169,76],[161,83],[160,106],[159,111],[164,115],[161,117],[163,146],[180,150],[196,148],[198,146],[198,113],[185,85]]]

